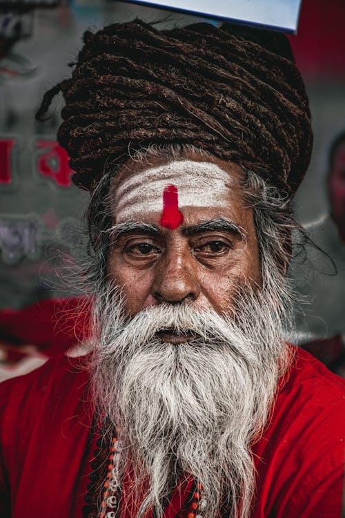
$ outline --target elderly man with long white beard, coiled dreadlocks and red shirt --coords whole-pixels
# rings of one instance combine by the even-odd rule
[[[140,21],[84,41],[39,115],[62,90],[93,346],[3,385],[3,515],[340,517],[344,382],[284,341],[312,142],[288,41]]]

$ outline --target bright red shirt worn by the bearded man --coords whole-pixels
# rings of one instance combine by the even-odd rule
[[[1,517],[81,518],[95,448],[81,362],[59,356],[0,385]],[[344,443],[345,381],[299,349],[253,447],[250,518],[340,518]],[[178,508],[189,489],[172,495],[166,518],[183,516]],[[124,503],[126,484],[121,518],[130,518]]]

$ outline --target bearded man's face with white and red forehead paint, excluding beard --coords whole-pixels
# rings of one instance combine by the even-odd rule
[[[239,290],[261,284],[253,211],[240,175],[235,164],[195,156],[121,169],[108,277],[124,294],[128,316],[182,301],[231,314]]]

